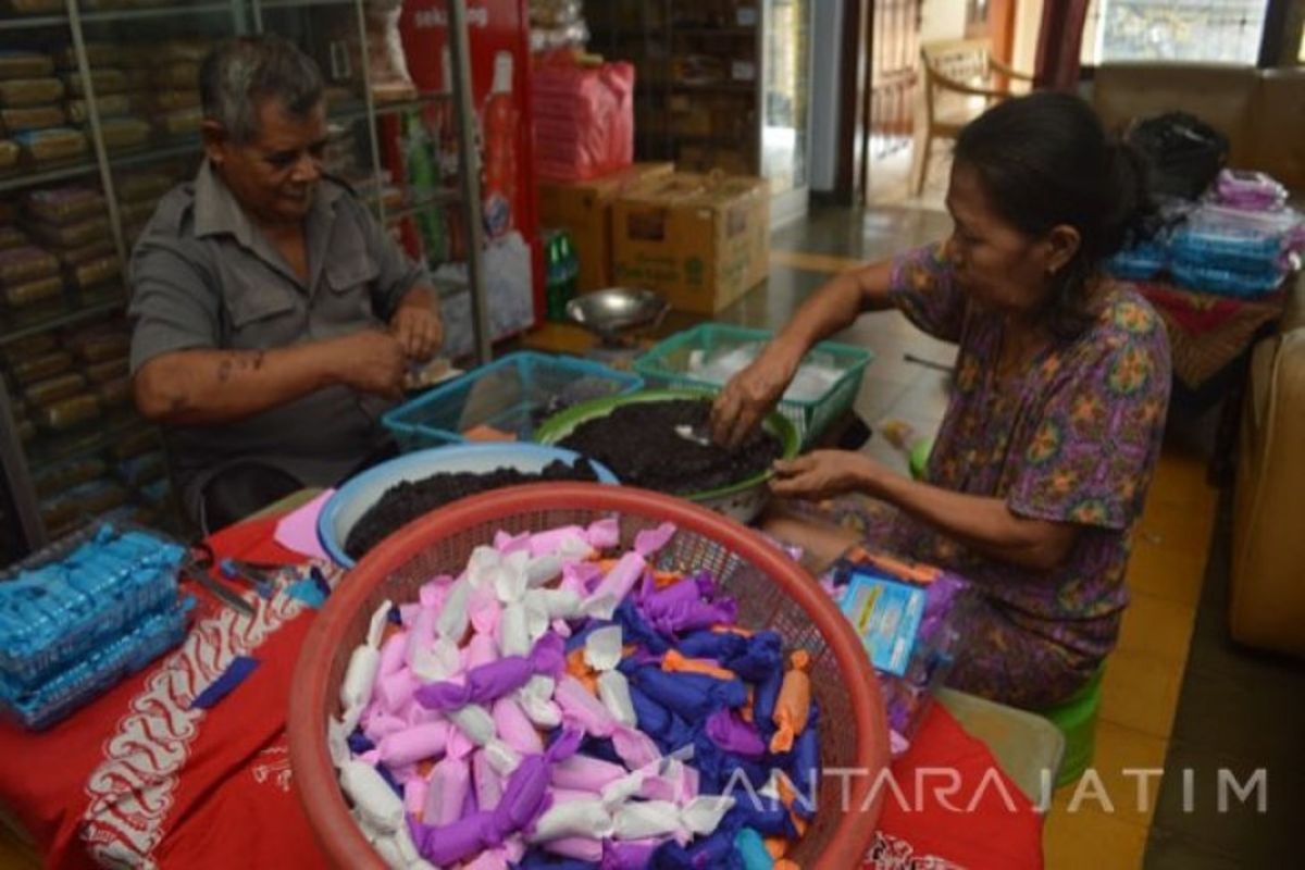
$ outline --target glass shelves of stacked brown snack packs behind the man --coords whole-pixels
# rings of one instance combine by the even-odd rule
[[[324,168],[397,235],[423,207],[458,207],[455,153],[424,188],[385,166],[381,119],[448,115],[453,100],[448,85],[423,91],[395,72],[397,30],[360,0],[0,3],[0,416],[21,453],[0,513],[22,530],[0,541],[0,562],[106,514],[163,526],[176,514],[158,432],[133,411],[125,263],[202,157],[205,53],[243,33],[315,56],[331,125]]]

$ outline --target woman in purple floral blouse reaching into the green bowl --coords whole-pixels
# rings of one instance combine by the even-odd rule
[[[1114,646],[1129,535],[1164,430],[1169,348],[1151,307],[1100,265],[1144,198],[1141,164],[1082,100],[1001,103],[957,141],[951,236],[829,282],[716,399],[714,436],[735,442],[806,350],[865,310],[898,308],[959,344],[923,481],[817,450],[779,463],[773,484],[823,502],[834,520],[788,513],[776,533],[827,557],[864,539],[977,584],[957,687],[1045,707],[1091,680]]]

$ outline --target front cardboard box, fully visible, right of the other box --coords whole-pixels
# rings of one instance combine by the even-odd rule
[[[714,314],[766,278],[770,185],[753,176],[675,173],[612,207],[616,283]]]

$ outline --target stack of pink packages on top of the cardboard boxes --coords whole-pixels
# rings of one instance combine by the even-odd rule
[[[540,60],[530,80],[539,175],[585,181],[634,162],[634,67]]]

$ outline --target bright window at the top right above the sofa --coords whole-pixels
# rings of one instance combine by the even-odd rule
[[[1254,64],[1267,7],[1267,0],[1092,0],[1082,60]]]

